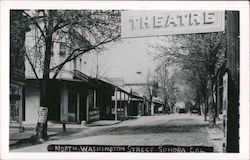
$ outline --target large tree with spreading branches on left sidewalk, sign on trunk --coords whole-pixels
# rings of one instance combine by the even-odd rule
[[[48,80],[50,73],[57,77],[64,65],[84,53],[102,49],[103,45],[119,39],[120,12],[117,10],[26,10],[23,15],[27,23],[37,29],[34,47],[27,53],[27,59],[38,78],[37,68],[32,61],[40,61],[42,82],[40,84],[40,106],[48,107]],[[67,52],[60,64],[52,63],[53,43],[64,43]],[[38,46],[40,53],[34,51]],[[28,54],[27,54],[28,55]],[[34,62],[34,61],[33,61]],[[47,122],[37,124],[37,140],[44,141],[47,137]]]

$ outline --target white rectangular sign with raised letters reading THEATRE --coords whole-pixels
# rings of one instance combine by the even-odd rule
[[[224,11],[123,11],[123,38],[220,32]]]

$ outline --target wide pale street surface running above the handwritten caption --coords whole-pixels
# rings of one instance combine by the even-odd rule
[[[207,127],[208,122],[198,115],[143,116],[112,126],[86,127],[64,139],[51,138],[44,144],[13,151],[47,151],[48,144],[212,146]]]

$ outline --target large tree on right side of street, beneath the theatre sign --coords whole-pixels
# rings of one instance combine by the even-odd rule
[[[197,97],[205,106],[205,120],[207,111],[214,115],[213,84],[218,66],[225,61],[225,42],[224,33],[206,33],[167,36],[151,45],[156,59],[178,66],[185,79],[196,86]]]

